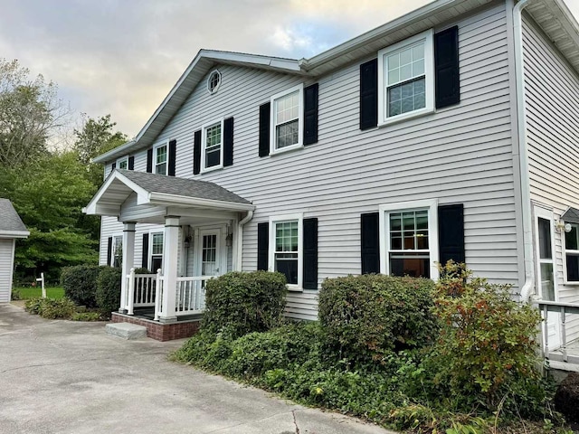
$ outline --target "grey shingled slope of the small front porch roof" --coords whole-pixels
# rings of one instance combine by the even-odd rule
[[[251,203],[220,185],[206,181],[149,174],[147,172],[136,172],[133,170],[118,169],[118,171],[121,175],[126,176],[130,181],[138,184],[139,187],[147,190],[149,193],[175,194],[177,196],[196,197],[199,199],[230,203]]]

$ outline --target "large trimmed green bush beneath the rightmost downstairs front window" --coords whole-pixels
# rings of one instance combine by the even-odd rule
[[[319,293],[318,316],[330,353],[365,363],[431,343],[438,334],[433,288],[427,278],[376,274],[327,278]]]

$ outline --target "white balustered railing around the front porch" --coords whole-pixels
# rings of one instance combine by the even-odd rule
[[[155,320],[160,317],[184,316],[201,313],[205,308],[204,282],[212,276],[176,278],[176,309],[165,312],[163,293],[165,281],[159,269],[157,274],[135,274],[131,269],[127,278],[127,294],[121,308],[134,315],[135,307],[155,307]]]

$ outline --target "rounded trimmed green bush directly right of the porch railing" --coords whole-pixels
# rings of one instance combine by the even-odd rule
[[[216,334],[226,329],[239,337],[280,324],[287,292],[281,273],[231,272],[208,280],[205,290],[201,324],[205,331]]]

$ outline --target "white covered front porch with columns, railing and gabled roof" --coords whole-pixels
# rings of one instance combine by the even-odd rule
[[[242,226],[253,209],[216,184],[114,170],[83,210],[123,224],[122,241],[120,236],[113,241],[122,269],[113,320],[139,317],[161,325],[198,320],[205,282],[241,269]],[[139,270],[138,261],[149,271]]]

